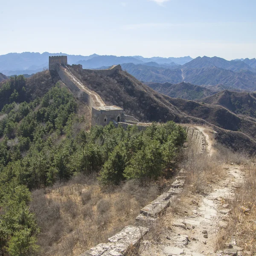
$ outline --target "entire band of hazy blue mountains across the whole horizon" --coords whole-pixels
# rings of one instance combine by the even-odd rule
[[[42,54],[38,52],[9,53],[0,55],[0,72],[6,76],[14,74],[37,73],[48,67],[50,55],[67,55],[65,53]],[[180,58],[144,58],[142,56],[114,55],[67,55],[69,64],[81,64],[84,69],[104,69],[121,64],[138,80],[151,83],[179,84],[186,82],[206,87],[212,91],[222,89],[256,90],[256,59],[235,59],[227,61],[219,57],[189,56]],[[163,90],[158,91],[164,93]],[[169,93],[167,93],[169,95]],[[198,93],[196,93],[197,95]],[[179,94],[181,95],[181,94]],[[198,94],[199,95],[199,94]],[[194,97],[188,94],[186,97]]]

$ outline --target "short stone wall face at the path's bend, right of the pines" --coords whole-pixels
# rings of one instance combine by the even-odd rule
[[[190,146],[199,152],[204,152],[206,150],[205,138],[201,131],[197,131],[193,127],[186,127],[186,133],[187,141]]]

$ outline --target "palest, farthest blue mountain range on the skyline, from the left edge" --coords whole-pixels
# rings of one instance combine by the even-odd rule
[[[19,75],[19,74],[32,74],[37,73],[48,67],[49,56],[67,55],[66,53],[49,53],[44,52],[22,52],[22,53],[8,53],[6,55],[0,55],[0,72],[6,76]],[[148,62],[155,62],[156,64],[164,64],[168,67],[183,65],[192,60],[191,57],[180,58],[161,58],[152,57],[144,58],[142,56],[113,56],[113,55],[97,55],[90,56],[82,55],[67,55],[68,64],[82,64],[84,68],[96,69],[102,66],[112,66],[115,64],[123,64],[132,62],[134,64],[146,64]],[[150,65],[150,64],[149,64]]]

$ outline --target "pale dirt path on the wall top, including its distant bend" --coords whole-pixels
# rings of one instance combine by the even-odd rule
[[[207,151],[212,155],[212,140],[203,127],[197,127],[207,140]],[[207,195],[186,195],[171,203],[179,213],[167,210],[163,218],[163,232],[157,241],[144,241],[141,244],[141,256],[224,256],[241,255],[241,248],[233,246],[223,252],[218,252],[221,229],[227,227],[230,215],[225,199],[235,196],[235,190],[244,181],[244,174],[238,165],[223,166],[223,179],[210,183]],[[189,174],[188,174],[189,175]],[[185,204],[179,203],[185,201]],[[176,204],[176,206],[175,206]],[[180,213],[181,212],[181,213]],[[230,241],[232,244],[232,241]]]

